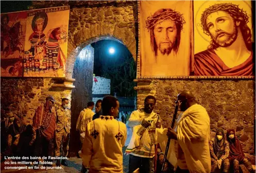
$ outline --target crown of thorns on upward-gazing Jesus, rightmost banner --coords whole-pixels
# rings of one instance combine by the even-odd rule
[[[216,11],[225,11],[235,19],[239,19],[246,24],[249,22],[249,16],[247,15],[246,11],[239,8],[238,5],[235,5],[232,3],[215,4],[210,6],[206,10],[204,10],[201,16],[201,27],[203,29],[203,32],[208,35],[209,33],[208,33],[208,27],[206,25],[206,19],[209,14]]]

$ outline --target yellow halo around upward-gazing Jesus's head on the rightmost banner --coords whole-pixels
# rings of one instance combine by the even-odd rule
[[[246,1],[211,1],[211,0],[208,0],[208,1],[205,1],[204,3],[202,3],[202,5],[200,5],[200,7],[198,8],[196,15],[195,15],[195,28],[196,28],[196,31],[198,32],[198,34],[203,38],[203,40],[210,43],[211,36],[207,36],[205,33],[203,33],[203,29],[201,27],[201,21],[200,21],[202,11],[204,11],[206,8],[208,8],[209,6],[214,5],[214,4],[232,3],[235,5],[241,5],[242,2],[244,3],[244,6],[246,6],[248,9],[250,9],[249,10],[250,12],[247,14],[250,19],[248,24],[250,24],[250,26],[251,26],[251,5],[249,5]],[[244,9],[246,12],[248,11],[247,8]],[[250,26],[249,26],[249,28],[252,30],[252,28]]]

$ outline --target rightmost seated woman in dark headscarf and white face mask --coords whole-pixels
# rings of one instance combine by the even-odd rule
[[[244,163],[245,167],[250,171],[254,172],[251,163],[245,157],[242,145],[238,138],[235,136],[235,130],[229,129],[227,131],[227,140],[229,142],[229,160],[233,163],[233,169],[235,173],[239,172],[239,164]]]

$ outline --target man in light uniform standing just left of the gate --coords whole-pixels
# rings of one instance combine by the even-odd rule
[[[71,125],[71,111],[67,108],[69,105],[69,99],[62,98],[61,106],[57,110],[57,129],[55,133],[55,156],[60,156],[60,146],[64,151],[64,157],[67,157],[69,151],[69,141],[70,141],[70,125]],[[66,159],[61,162],[62,165],[67,166]],[[60,165],[60,159],[57,159],[57,166]]]

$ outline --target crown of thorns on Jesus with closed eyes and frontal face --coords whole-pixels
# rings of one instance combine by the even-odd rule
[[[153,28],[160,20],[171,20],[176,24],[180,25],[181,30],[183,29],[183,24],[185,24],[183,14],[172,9],[169,9],[167,11],[163,11],[159,14],[151,15],[151,17],[148,17],[146,20],[146,28],[148,30]]]

